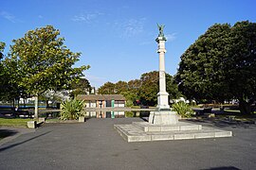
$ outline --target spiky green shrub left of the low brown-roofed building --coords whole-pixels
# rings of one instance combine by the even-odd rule
[[[76,98],[66,100],[61,105],[61,119],[62,120],[74,120],[82,116],[82,108],[84,107],[83,100],[77,100]]]

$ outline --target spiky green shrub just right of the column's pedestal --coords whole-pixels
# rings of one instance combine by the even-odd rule
[[[192,117],[193,111],[190,105],[186,104],[183,101],[174,103],[173,110],[177,111],[177,113],[181,115],[181,117]]]

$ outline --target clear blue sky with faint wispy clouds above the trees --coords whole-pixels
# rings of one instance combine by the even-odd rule
[[[256,22],[255,7],[255,0],[0,0],[0,42],[52,25],[67,48],[82,52],[76,66],[89,64],[84,74],[100,87],[158,70],[156,23],[165,25],[166,72],[174,76],[180,56],[210,26]]]

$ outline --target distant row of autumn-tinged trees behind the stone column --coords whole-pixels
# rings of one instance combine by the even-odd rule
[[[157,104],[156,94],[159,91],[159,73],[157,71],[142,74],[140,79],[133,79],[129,82],[119,81],[117,83],[106,82],[99,88],[99,93],[120,93],[126,98],[126,101],[147,106]],[[177,85],[173,76],[166,74],[167,92],[171,98],[177,98],[181,95],[178,92]]]

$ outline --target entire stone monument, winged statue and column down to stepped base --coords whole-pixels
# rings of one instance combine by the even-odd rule
[[[231,131],[178,121],[176,111],[169,106],[169,94],[166,92],[165,42],[167,39],[163,33],[164,26],[157,26],[159,34],[155,41],[158,44],[159,54],[159,92],[156,109],[150,112],[148,122],[133,122],[131,125],[114,125],[114,127],[127,142],[231,137]]]

